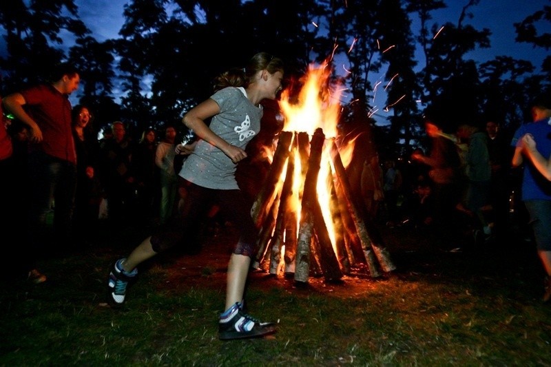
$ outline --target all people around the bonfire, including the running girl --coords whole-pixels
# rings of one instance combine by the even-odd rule
[[[277,98],[283,72],[281,59],[260,52],[245,68],[221,74],[214,94],[190,109],[183,125],[167,123],[162,132],[147,128],[138,142],[121,121],[114,121],[98,140],[92,108],[72,107],[69,101],[80,83],[71,65],[62,64],[50,84],[0,100],[0,115],[14,116],[0,124],[0,173],[13,178],[0,180],[0,189],[10,193],[0,221],[26,236],[23,244],[12,245],[15,260],[5,261],[3,271],[45,282],[37,265],[40,254],[92,238],[94,223],[105,216],[114,228],[130,223],[150,228],[151,235],[107,271],[109,302],[121,306],[142,262],[175,246],[198,248],[200,221],[214,203],[240,233],[229,259],[219,337],[274,333],[272,323],[260,322],[245,308],[258,229],[236,180],[236,165],[247,158],[247,144],[260,132],[260,102]],[[427,119],[427,154],[417,148],[407,159],[380,162],[373,145],[357,145],[368,148],[348,172],[370,236],[384,241],[374,226],[384,218],[382,224],[389,228],[408,224],[435,233],[442,246],[465,237],[474,248],[490,246],[510,234],[510,213],[526,209],[516,220],[532,226],[547,275],[543,300],[550,300],[549,98],[532,103],[534,121],[521,125],[512,138],[503,135],[495,120],[444,132]],[[178,144],[178,126],[198,140]],[[519,200],[511,200],[512,195]]]

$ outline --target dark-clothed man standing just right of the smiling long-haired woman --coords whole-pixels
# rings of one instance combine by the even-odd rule
[[[113,138],[105,139],[100,147],[102,182],[105,185],[109,220],[116,228],[129,224],[136,199],[132,171],[132,140],[126,136],[125,125],[111,125]]]

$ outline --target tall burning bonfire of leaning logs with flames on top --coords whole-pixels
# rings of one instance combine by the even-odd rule
[[[380,270],[393,271],[395,266],[388,251],[368,233],[335,139],[326,138],[323,123],[313,124],[311,134],[293,125],[297,118],[318,116],[325,126],[332,122],[328,130],[336,135],[337,107],[319,101],[318,86],[325,80],[323,70],[310,70],[299,98],[302,106],[289,105],[282,96],[286,126],[251,209],[260,228],[253,266],[260,268],[269,262],[270,273],[294,275],[296,282],[308,282],[310,275],[340,280],[361,264],[366,264],[371,277],[379,277]],[[304,111],[304,106],[310,110],[314,106],[313,113]],[[322,112],[326,113],[321,116]]]

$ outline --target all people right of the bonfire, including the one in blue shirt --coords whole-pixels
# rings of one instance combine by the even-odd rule
[[[425,121],[428,154],[408,159],[366,154],[361,205],[366,218],[393,228],[408,225],[457,251],[535,244],[551,300],[551,95],[530,105],[532,121],[510,136],[499,123],[465,123],[444,132]]]

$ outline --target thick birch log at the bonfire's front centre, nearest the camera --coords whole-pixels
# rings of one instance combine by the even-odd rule
[[[295,266],[295,281],[308,282],[310,249],[313,235],[314,213],[313,205],[318,200],[316,186],[318,185],[318,174],[320,172],[320,161],[325,135],[322,129],[315,129],[310,142],[310,157],[308,160],[308,171],[304,179],[304,191],[302,192],[302,205],[300,215],[300,226],[298,229],[297,259]]]

